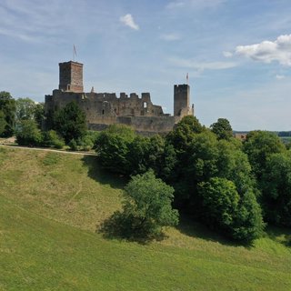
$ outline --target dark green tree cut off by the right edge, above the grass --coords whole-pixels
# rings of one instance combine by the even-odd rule
[[[291,226],[290,152],[268,157],[260,185],[266,220],[283,226]]]

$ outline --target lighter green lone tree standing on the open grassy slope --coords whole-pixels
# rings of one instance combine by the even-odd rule
[[[163,226],[176,226],[178,212],[172,209],[174,188],[156,178],[153,171],[133,176],[125,186],[123,214],[131,230],[142,236],[157,235]]]

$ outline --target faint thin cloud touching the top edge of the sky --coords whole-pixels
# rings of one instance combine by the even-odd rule
[[[175,0],[171,1],[166,5],[167,9],[178,9],[178,8],[194,8],[194,9],[204,9],[216,7],[225,3],[227,0]]]

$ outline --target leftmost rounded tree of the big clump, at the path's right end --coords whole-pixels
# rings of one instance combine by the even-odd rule
[[[135,136],[135,131],[125,125],[110,125],[102,131],[95,140],[95,151],[101,165],[113,172],[130,175],[129,146]]]

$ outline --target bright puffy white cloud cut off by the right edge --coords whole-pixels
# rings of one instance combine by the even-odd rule
[[[291,35],[280,35],[276,41],[263,41],[255,45],[238,45],[236,54],[264,63],[278,62],[291,65]]]

